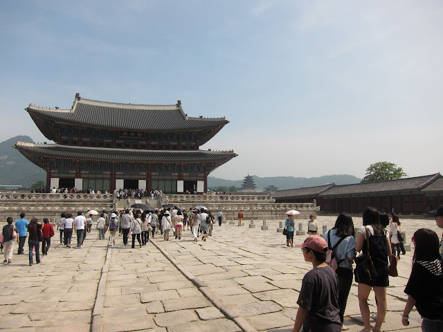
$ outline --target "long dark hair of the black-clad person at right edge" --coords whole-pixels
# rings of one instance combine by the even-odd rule
[[[435,259],[442,259],[440,256],[440,241],[438,235],[433,230],[428,228],[420,228],[415,231],[413,236],[414,241],[414,256],[413,262],[417,261],[434,261]]]

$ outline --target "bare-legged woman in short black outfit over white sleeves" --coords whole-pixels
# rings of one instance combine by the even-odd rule
[[[369,237],[369,239],[368,239]],[[374,283],[371,282],[359,282],[358,297],[361,317],[365,328],[363,332],[381,331],[381,325],[386,316],[388,309],[386,303],[386,287],[389,286],[388,279],[388,256],[391,255],[389,237],[380,223],[379,212],[375,208],[365,208],[363,211],[363,225],[357,232],[357,241],[355,250],[360,252],[368,252],[374,263],[375,270],[377,271],[377,278]],[[375,297],[377,298],[377,321],[372,328],[369,317],[368,297],[371,289],[374,288]]]

